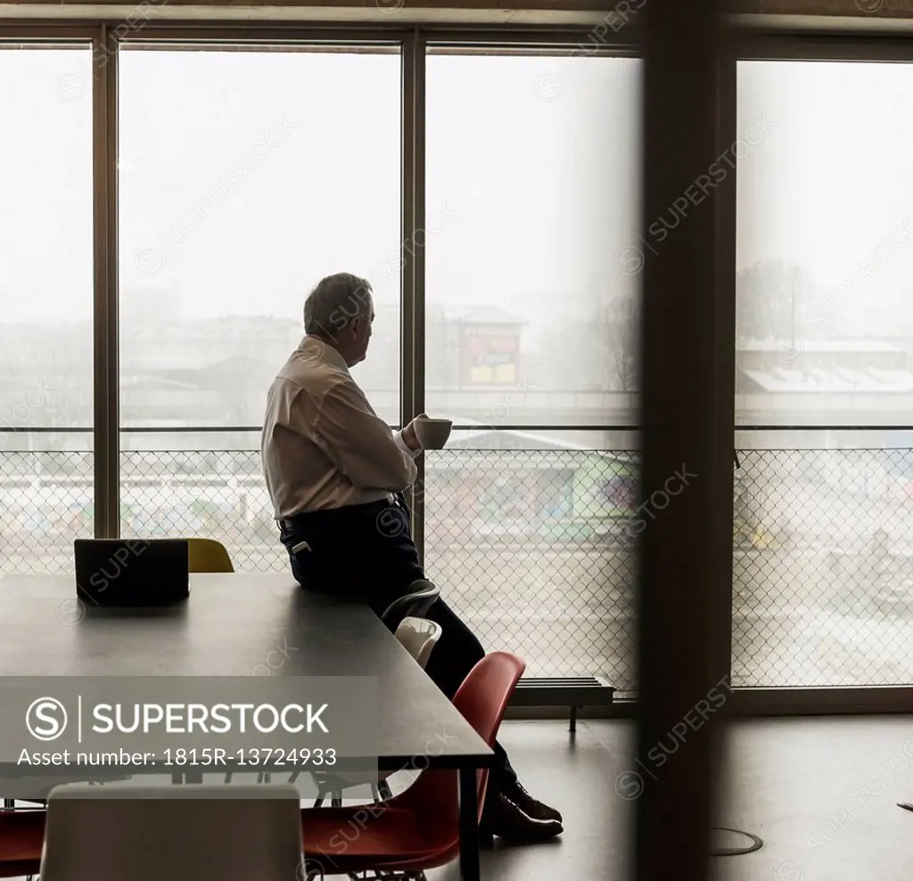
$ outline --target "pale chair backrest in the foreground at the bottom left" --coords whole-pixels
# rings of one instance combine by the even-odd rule
[[[41,881],[294,881],[299,799],[289,784],[58,786]]]

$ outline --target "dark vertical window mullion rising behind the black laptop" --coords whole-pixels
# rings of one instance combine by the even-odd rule
[[[101,25],[92,38],[95,535],[119,534],[117,339],[117,53]]]

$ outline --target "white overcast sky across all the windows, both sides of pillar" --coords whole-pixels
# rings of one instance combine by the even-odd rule
[[[0,53],[6,320],[89,316],[88,65],[88,51]],[[616,256],[636,242],[639,67],[428,59],[427,203],[446,221],[429,224],[429,301],[543,327],[556,300],[585,310],[635,292]],[[120,70],[125,300],[299,320],[310,284],[341,268],[396,300],[398,56],[131,50]],[[554,72],[560,94],[543,95]],[[737,134],[771,123],[740,162],[740,268],[794,263],[833,288],[913,214],[910,87],[904,65],[740,64]],[[246,179],[218,195],[238,168]],[[207,194],[220,204],[202,215]],[[896,241],[847,306],[860,332],[889,329],[879,307],[906,307],[913,247]]]

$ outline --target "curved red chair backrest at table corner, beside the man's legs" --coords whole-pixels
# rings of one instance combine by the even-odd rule
[[[453,704],[478,736],[488,746],[498,738],[504,711],[526,662],[507,652],[492,652],[474,666],[454,695]],[[485,792],[488,788],[488,768],[476,775],[478,819],[482,819]],[[435,816],[436,822],[449,823],[453,830],[451,843],[440,859],[449,859],[459,850],[459,800],[456,771],[427,770],[400,797],[400,803],[413,810]],[[440,865],[440,864],[438,864]],[[42,879],[44,881],[44,879]]]

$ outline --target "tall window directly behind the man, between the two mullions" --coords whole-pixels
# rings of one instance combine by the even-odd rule
[[[323,276],[371,281],[353,375],[400,418],[399,52],[143,46],[119,71],[122,528],[281,565],[259,435],[239,429],[261,425]]]

